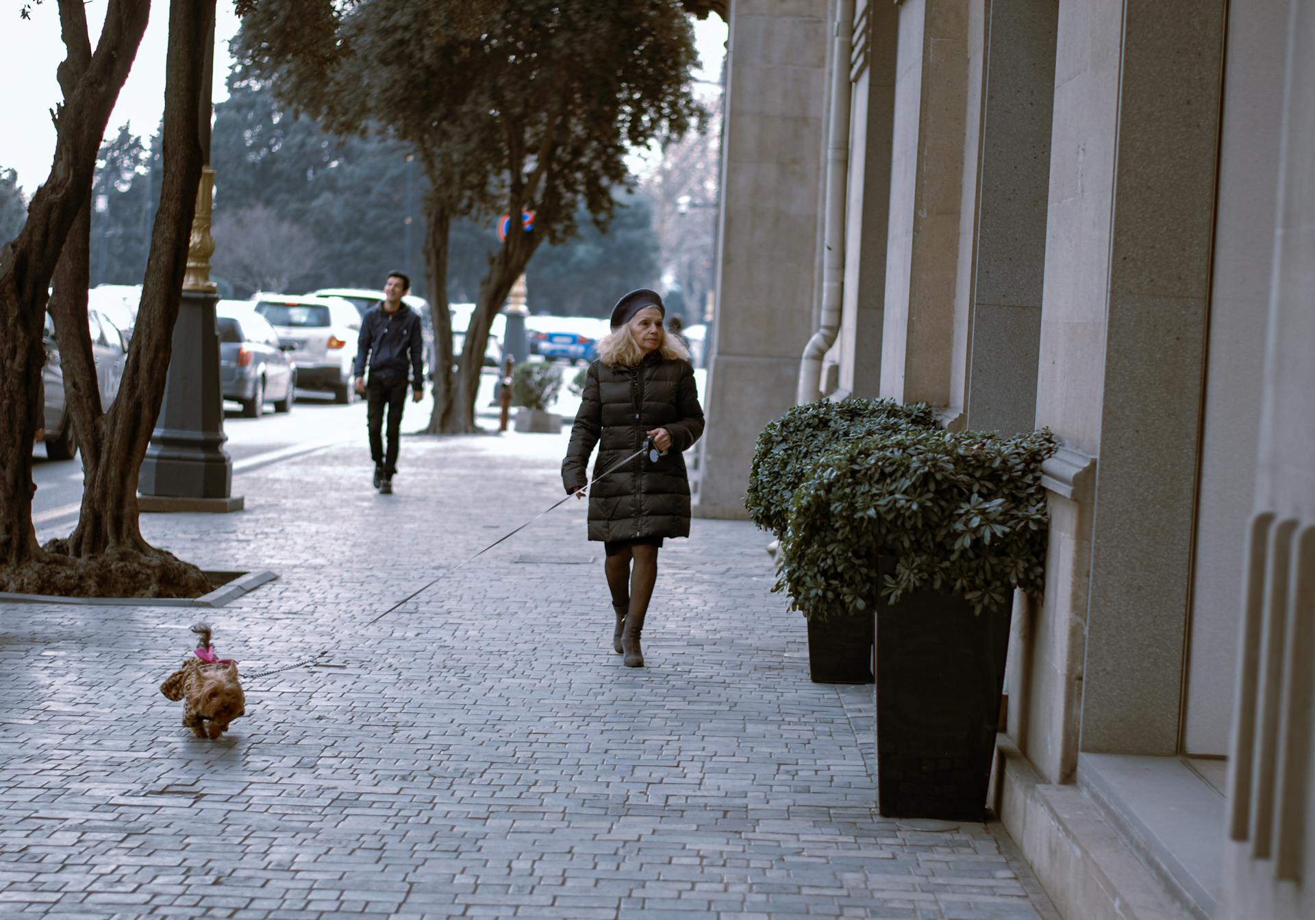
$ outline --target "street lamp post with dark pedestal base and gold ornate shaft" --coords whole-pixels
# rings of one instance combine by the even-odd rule
[[[224,449],[224,391],[220,386],[220,337],[210,280],[210,208],[214,170],[210,168],[210,83],[214,67],[214,17],[210,16],[201,79],[201,183],[187,250],[183,297],[174,325],[164,400],[138,478],[141,511],[241,511],[233,496],[233,461]]]

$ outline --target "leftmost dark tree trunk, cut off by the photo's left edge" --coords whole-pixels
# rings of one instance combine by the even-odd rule
[[[59,0],[71,66],[85,42],[80,0]],[[110,0],[96,53],[55,116],[55,157],[17,238],[0,249],[0,566],[43,554],[32,526],[32,444],[45,355],[41,330],[64,238],[91,193],[105,124],[146,32],[149,0]],[[82,17],[82,18],[79,18]],[[71,28],[82,22],[82,38]],[[4,579],[0,579],[4,580]]]

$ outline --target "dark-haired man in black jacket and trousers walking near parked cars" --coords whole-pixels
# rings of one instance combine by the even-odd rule
[[[425,395],[425,346],[419,330],[419,315],[402,303],[410,291],[410,278],[400,271],[389,272],[384,282],[384,301],[372,307],[360,324],[360,345],[356,349],[356,392],[366,395],[370,417],[370,457],[375,461],[375,488],[383,495],[393,492],[393,474],[397,471],[397,449],[401,438],[402,409],[406,408],[406,366],[410,363],[412,399]],[[366,367],[370,383],[366,383]],[[384,407],[388,408],[388,453],[384,454],[381,428]]]

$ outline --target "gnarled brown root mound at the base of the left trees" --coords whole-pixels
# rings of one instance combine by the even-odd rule
[[[200,598],[214,590],[191,562],[159,549],[114,548],[92,557],[68,555],[63,540],[43,559],[0,567],[0,591],[62,598]]]

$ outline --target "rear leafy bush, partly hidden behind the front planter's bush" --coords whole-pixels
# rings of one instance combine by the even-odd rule
[[[790,500],[813,465],[828,449],[905,425],[939,428],[926,403],[902,405],[890,399],[819,399],[796,405],[757,436],[744,508],[750,519],[777,537],[785,534]]]

